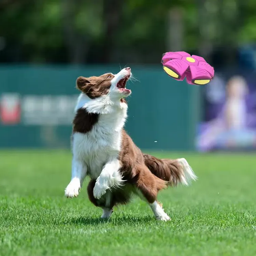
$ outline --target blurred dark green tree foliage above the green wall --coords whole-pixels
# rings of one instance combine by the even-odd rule
[[[159,62],[177,36],[171,10],[181,11],[181,50],[256,40],[255,0],[2,0],[0,61]]]

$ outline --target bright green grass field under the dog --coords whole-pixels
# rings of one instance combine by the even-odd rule
[[[170,222],[140,199],[101,221],[87,198],[67,199],[71,154],[0,152],[0,255],[256,255],[256,156],[185,157],[198,176],[159,194]]]

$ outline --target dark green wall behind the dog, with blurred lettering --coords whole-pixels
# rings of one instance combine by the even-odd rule
[[[126,130],[144,149],[193,150],[199,88],[177,82],[157,66],[131,66],[139,82]],[[78,76],[117,73],[119,66],[0,67],[0,147],[69,147]]]

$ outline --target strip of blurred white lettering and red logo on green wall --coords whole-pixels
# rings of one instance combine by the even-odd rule
[[[0,99],[4,125],[70,125],[77,95],[19,95],[3,93]]]

